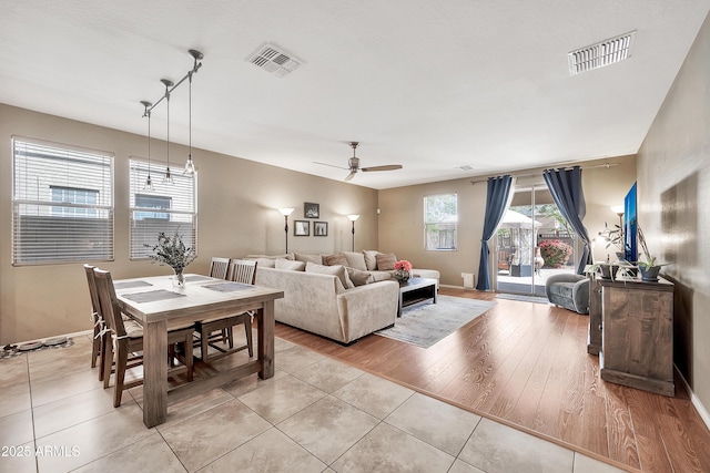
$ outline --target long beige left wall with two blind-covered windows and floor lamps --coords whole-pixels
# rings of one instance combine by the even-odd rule
[[[129,157],[145,156],[145,137],[0,104],[0,343],[69,333],[91,328],[90,304],[81,264],[13,267],[11,254],[10,137],[20,135],[115,154],[115,260],[98,265],[115,278],[170,274],[164,266],[130,261]],[[152,157],[164,155],[155,141]],[[171,156],[186,156],[171,145]],[[295,207],[288,249],[302,253],[349,250],[346,214],[356,223],[357,249],[377,247],[377,191],[295,173],[251,161],[193,150],[199,166],[199,258],[187,268],[205,273],[212,256],[283,253],[284,218],[276,207]],[[327,237],[294,237],[293,219],[303,219],[303,203],[321,205]],[[313,230],[312,230],[313,233]]]

